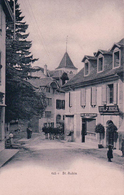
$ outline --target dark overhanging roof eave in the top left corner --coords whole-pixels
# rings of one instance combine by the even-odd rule
[[[9,21],[13,21],[13,12],[7,0],[0,0],[0,4],[3,7],[5,15]]]

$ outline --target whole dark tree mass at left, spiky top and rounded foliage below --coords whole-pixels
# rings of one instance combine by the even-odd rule
[[[9,4],[13,10],[13,1]],[[31,119],[42,116],[46,107],[45,95],[36,92],[36,89],[26,81],[31,63],[37,59],[30,52],[31,41],[27,41],[28,25],[23,22],[24,16],[17,0],[16,30],[13,40],[13,23],[7,21],[6,28],[6,122],[16,119]]]

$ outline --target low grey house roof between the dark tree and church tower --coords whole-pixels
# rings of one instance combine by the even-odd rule
[[[31,83],[34,87],[39,88],[39,87],[47,87],[50,86],[52,82],[55,82],[52,78],[47,77],[47,78],[41,78],[41,79],[28,79],[27,80],[29,83]]]

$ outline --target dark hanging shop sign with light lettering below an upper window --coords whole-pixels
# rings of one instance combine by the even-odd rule
[[[112,105],[112,106],[99,106],[99,112],[100,114],[119,114],[119,108],[118,105]]]

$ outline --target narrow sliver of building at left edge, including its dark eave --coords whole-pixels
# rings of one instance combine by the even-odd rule
[[[5,147],[6,17],[12,21],[12,11],[6,0],[0,0],[0,151]]]

